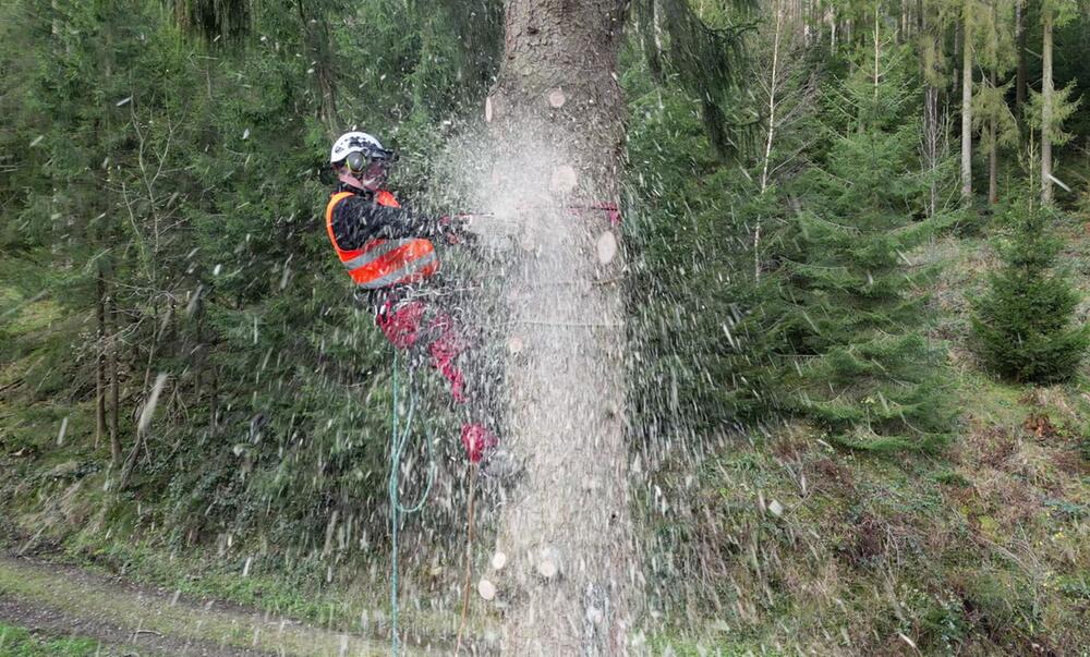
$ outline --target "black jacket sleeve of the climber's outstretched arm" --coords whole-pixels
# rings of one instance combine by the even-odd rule
[[[444,229],[437,219],[407,208],[378,205],[364,196],[346,196],[334,206],[334,238],[346,251],[360,248],[368,240],[435,238]]]

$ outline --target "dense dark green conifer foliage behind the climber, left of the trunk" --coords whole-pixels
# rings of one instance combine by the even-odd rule
[[[489,83],[500,4],[168,4],[0,9],[5,393],[71,399],[70,426],[93,424],[97,356],[116,356],[136,459],[111,498],[144,500],[175,546],[247,535],[305,553],[334,513],[380,534],[389,354],[318,220],[329,133],[348,115],[411,132],[402,188],[427,184],[438,122]],[[100,304],[117,309],[105,336]],[[47,308],[58,320],[26,328]],[[55,415],[13,418],[13,449],[55,438]]]

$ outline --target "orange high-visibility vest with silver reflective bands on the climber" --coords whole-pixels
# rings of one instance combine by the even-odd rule
[[[334,208],[351,192],[338,192],[326,206],[326,232],[334,251],[340,258],[349,276],[358,285],[377,290],[401,283],[423,280],[439,270],[439,258],[429,240],[409,238],[405,240],[367,240],[360,248],[343,250],[334,235]],[[382,190],[375,193],[375,203],[387,207],[401,207],[393,194]]]

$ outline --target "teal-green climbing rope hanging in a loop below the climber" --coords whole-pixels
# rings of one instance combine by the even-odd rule
[[[404,426],[401,425],[401,410],[398,403],[398,370],[400,369],[400,358],[398,357],[398,352],[393,352],[393,409],[392,409],[392,431],[390,434],[390,479],[389,479],[389,494],[390,494],[390,654],[397,657],[401,650],[400,640],[398,637],[398,531],[401,525],[401,520],[403,516],[411,513],[416,513],[424,508],[424,502],[427,501],[427,496],[432,492],[432,484],[435,483],[435,447],[431,436],[427,437],[427,483],[424,486],[424,492],[421,494],[420,499],[411,504],[410,507],[404,507],[401,504],[401,494],[400,494],[400,475],[401,475],[401,458],[404,455],[405,448],[409,445],[409,438],[412,434],[412,419],[416,412],[416,387],[413,386],[412,376],[409,378],[409,410],[405,413]]]

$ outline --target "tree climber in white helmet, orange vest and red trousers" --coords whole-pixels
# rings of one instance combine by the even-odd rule
[[[487,404],[477,381],[468,381],[459,366],[469,339],[436,291],[439,258],[434,239],[456,244],[465,238],[465,222],[424,217],[398,204],[385,188],[393,151],[364,132],[337,138],[329,162],[339,183],[326,206],[326,230],[334,251],[356,285],[356,299],[375,314],[375,324],[395,349],[431,364],[450,387],[455,402],[469,409],[461,442],[472,463],[497,453],[487,428]],[[477,384],[477,385],[474,385]],[[487,465],[486,465],[487,467]]]

